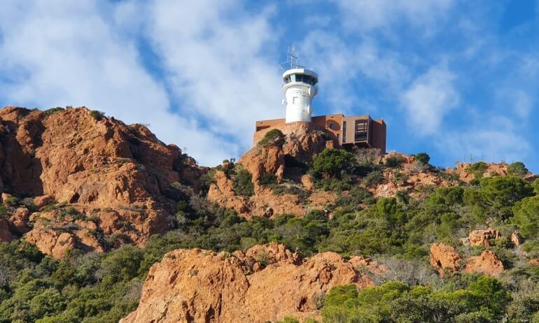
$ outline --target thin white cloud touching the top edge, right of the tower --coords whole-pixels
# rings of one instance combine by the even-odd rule
[[[454,0],[333,0],[353,29],[384,28],[405,19],[422,27],[436,24]]]

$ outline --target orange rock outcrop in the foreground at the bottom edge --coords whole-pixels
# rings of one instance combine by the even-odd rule
[[[256,260],[261,255],[265,268]],[[300,259],[276,244],[234,254],[174,250],[150,268],[139,308],[120,322],[266,322],[289,315],[319,317],[320,301],[331,287],[371,284],[353,259],[345,261],[333,252]]]

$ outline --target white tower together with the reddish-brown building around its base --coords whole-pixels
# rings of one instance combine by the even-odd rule
[[[342,113],[313,117],[312,99],[318,93],[318,74],[295,64],[292,51],[290,69],[283,73],[283,104],[286,105],[284,119],[260,120],[255,122],[253,143],[256,145],[267,131],[286,127],[294,122],[307,122],[314,129],[326,131],[334,147],[378,148],[386,152],[386,123],[374,120],[370,115],[346,117]]]

